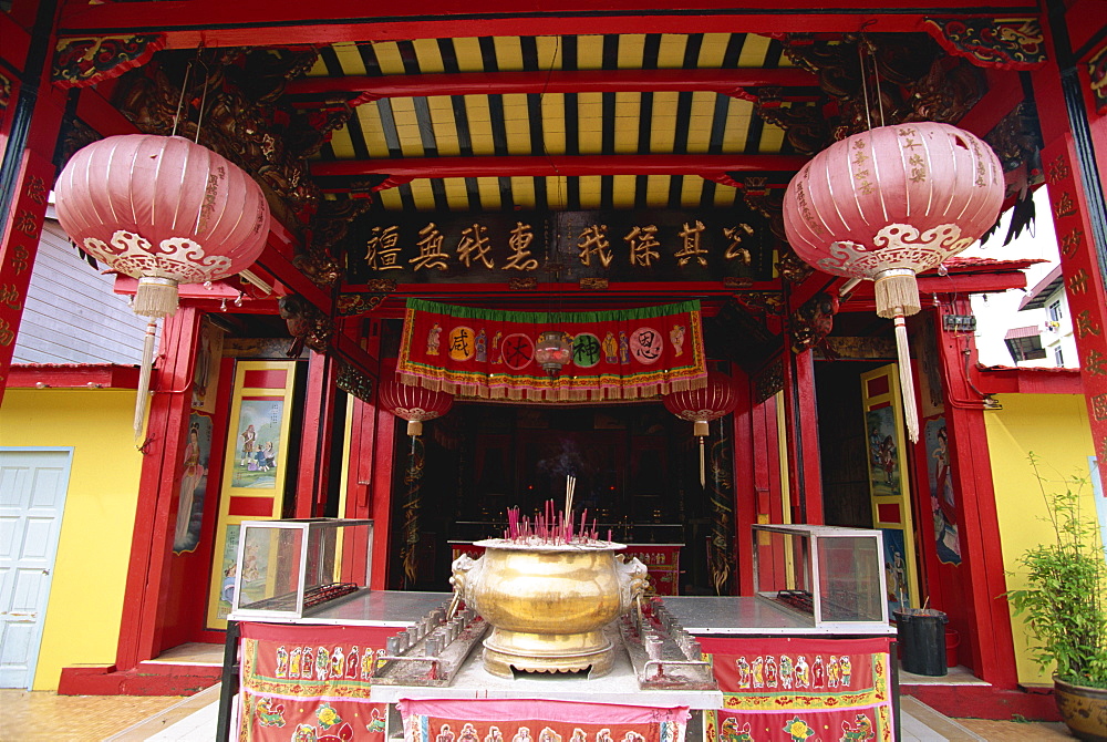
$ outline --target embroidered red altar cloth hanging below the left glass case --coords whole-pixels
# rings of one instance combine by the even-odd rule
[[[392,628],[242,624],[239,740],[384,742],[370,678]]]

